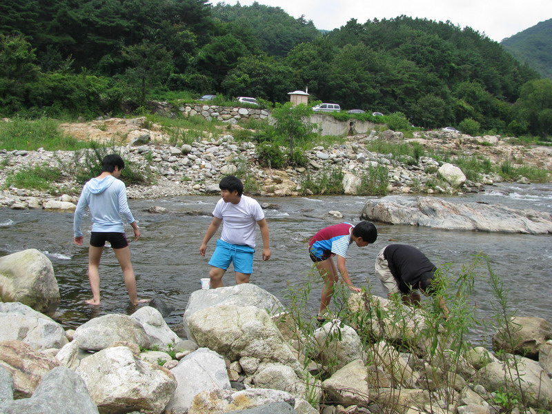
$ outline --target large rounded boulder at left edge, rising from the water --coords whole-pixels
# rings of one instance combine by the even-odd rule
[[[0,257],[0,302],[21,302],[35,311],[52,312],[59,299],[52,262],[39,250]]]

